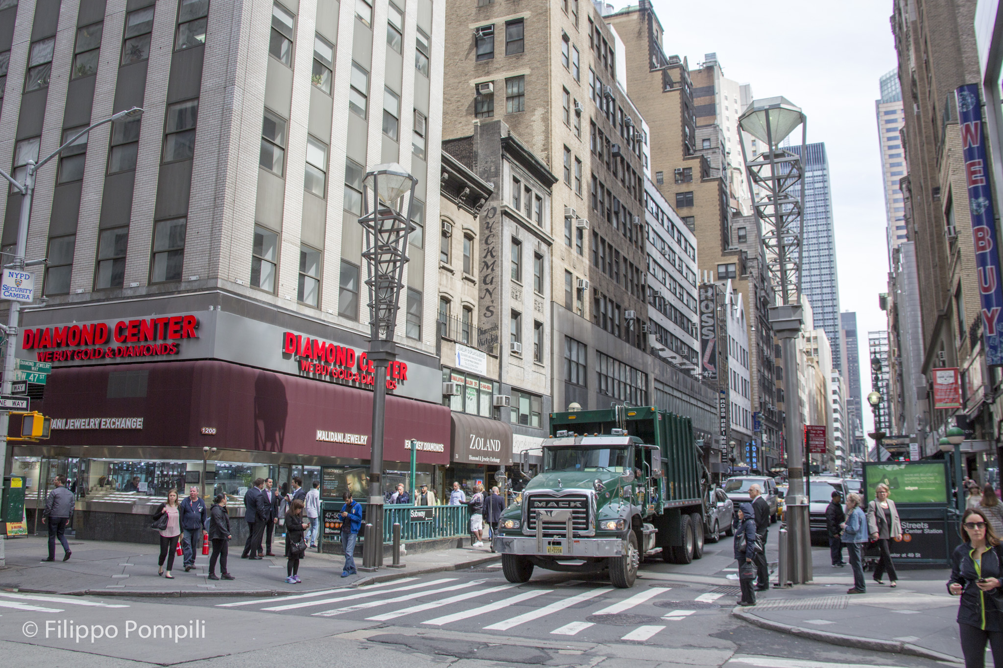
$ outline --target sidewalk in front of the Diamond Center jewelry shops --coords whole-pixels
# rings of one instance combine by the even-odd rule
[[[69,537],[67,537],[69,538]],[[409,554],[405,568],[383,567],[375,573],[341,577],[344,557],[308,551],[300,562],[301,585],[289,585],[284,545],[273,544],[277,557],[241,559],[243,546],[231,543],[228,568],[236,580],[209,580],[209,557],[199,551],[196,569],[189,573],[182,557],[175,558],[174,580],[156,575],[159,548],[136,543],[74,541],[73,556],[63,562],[56,549],[55,562],[42,562],[48,555],[47,537],[29,536],[6,540],[7,568],[0,569],[0,589],[46,594],[92,594],[100,596],[269,596],[302,593],[331,587],[358,586],[437,571],[470,568],[500,558],[487,548],[453,548]],[[361,565],[361,558],[356,560]],[[391,563],[389,559],[384,564]],[[219,567],[217,567],[219,568]],[[219,575],[219,570],[217,571]]]

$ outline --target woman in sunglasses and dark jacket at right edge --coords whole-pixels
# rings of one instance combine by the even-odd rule
[[[947,589],[961,597],[958,608],[958,635],[965,655],[965,668],[984,668],[986,642],[993,648],[996,668],[1003,668],[1003,615],[996,607],[1003,577],[999,538],[986,516],[969,508],[961,518],[964,541],[951,557],[953,567]]]

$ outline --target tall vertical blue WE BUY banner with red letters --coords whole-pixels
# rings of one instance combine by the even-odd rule
[[[1000,284],[1003,275],[1000,273],[999,251],[996,248],[993,193],[989,184],[979,84],[959,86],[955,95],[958,100],[961,148],[965,157],[965,179],[968,182],[975,266],[982,301],[982,339],[986,347],[986,364],[998,367],[1003,365],[1003,287]],[[934,388],[936,389],[936,385]]]

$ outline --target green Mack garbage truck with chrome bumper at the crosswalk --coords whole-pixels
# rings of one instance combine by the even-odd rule
[[[702,556],[709,478],[688,418],[654,407],[554,413],[543,460],[494,537],[510,582],[540,567],[608,571],[629,588],[645,556]]]

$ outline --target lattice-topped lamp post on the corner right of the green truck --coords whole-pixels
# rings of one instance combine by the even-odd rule
[[[789,555],[791,581],[811,580],[811,545],[808,527],[808,499],[804,486],[804,444],[796,402],[797,338],[802,322],[801,306],[801,237],[804,232],[804,169],[802,158],[807,141],[807,117],[800,108],[783,97],[753,100],[738,118],[741,129],[759,141],[766,150],[751,159],[745,142],[739,142],[748,171],[749,194],[756,224],[762,222],[762,244],[766,254],[768,277],[778,297],[769,306],[769,322],[780,340],[783,361],[784,432],[787,443],[787,526],[790,529]],[[780,148],[780,142],[801,126],[800,156]],[[782,569],[781,569],[782,570]],[[785,585],[786,583],[781,583]]]

